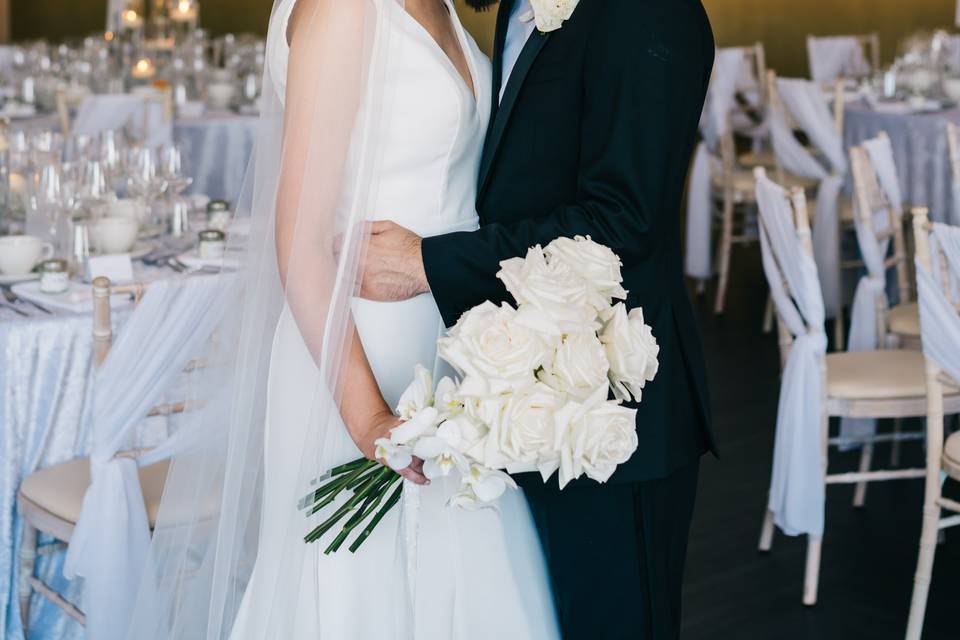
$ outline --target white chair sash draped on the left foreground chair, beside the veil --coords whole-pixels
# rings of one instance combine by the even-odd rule
[[[63,573],[85,579],[87,635],[124,638],[140,584],[150,530],[137,474],[176,453],[174,433],[153,455],[117,458],[136,426],[202,351],[219,322],[224,279],[193,278],[151,285],[96,374],[90,454],[92,482],[67,551]]]

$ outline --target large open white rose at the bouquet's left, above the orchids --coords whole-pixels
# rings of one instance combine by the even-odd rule
[[[484,302],[467,311],[438,342],[440,356],[463,374],[459,394],[499,394],[532,384],[549,344],[515,321],[516,310]]]

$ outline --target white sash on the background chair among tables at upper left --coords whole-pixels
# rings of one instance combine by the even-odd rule
[[[155,147],[173,140],[173,123],[160,102],[134,94],[99,94],[80,103],[73,121],[75,135],[94,136],[132,121],[146,144]],[[142,131],[146,126],[146,131]]]

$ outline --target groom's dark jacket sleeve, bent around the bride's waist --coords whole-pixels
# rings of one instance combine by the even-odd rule
[[[629,268],[654,249],[663,216],[677,215],[676,203],[660,210],[668,167],[689,162],[678,142],[689,124],[676,114],[702,100],[712,39],[700,28],[699,2],[604,2],[584,54],[576,200],[541,217],[424,239],[427,280],[448,326],[484,300],[508,299],[496,278],[502,260],[589,235]]]

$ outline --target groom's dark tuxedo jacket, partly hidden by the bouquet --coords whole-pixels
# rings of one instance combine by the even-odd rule
[[[533,33],[498,105],[513,1],[497,19],[481,226],[424,239],[427,279],[451,326],[484,300],[511,300],[495,274],[528,247],[589,235],[613,249],[628,308],[643,307],[661,349],[638,407],[640,447],[612,481],[665,477],[715,451],[680,250],[680,201],[713,66],[710,24],[700,0],[581,0],[561,29]]]

